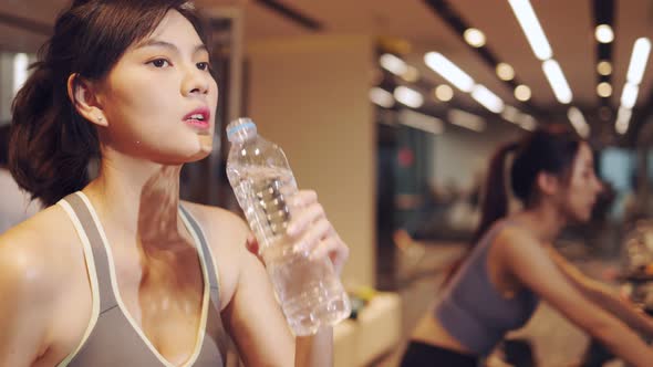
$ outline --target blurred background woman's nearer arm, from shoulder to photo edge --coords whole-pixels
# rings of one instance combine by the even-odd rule
[[[497,241],[501,268],[524,286],[628,363],[638,367],[651,365],[653,349],[624,323],[579,292],[532,235],[518,228],[507,228]]]

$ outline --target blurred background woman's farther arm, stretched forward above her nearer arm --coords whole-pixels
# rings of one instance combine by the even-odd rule
[[[628,301],[616,296],[605,284],[585,276],[552,247],[548,247],[548,252],[558,269],[577,290],[605,311],[619,317],[632,329],[647,337],[653,337],[653,318],[646,316],[646,314],[634,307]]]

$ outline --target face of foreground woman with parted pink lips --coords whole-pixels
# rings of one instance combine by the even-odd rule
[[[160,164],[201,159],[213,147],[217,102],[206,46],[186,18],[169,11],[101,83],[97,103],[108,124],[102,143]]]

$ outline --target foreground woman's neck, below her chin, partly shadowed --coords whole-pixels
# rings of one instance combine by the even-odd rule
[[[102,160],[100,175],[85,189],[104,222],[141,242],[163,243],[178,238],[179,172],[133,157]],[[162,242],[163,241],[163,242]]]

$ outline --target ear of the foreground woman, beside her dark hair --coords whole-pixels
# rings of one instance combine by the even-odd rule
[[[99,126],[108,126],[104,111],[97,103],[93,83],[80,74],[71,74],[68,78],[68,96],[80,115]]]

